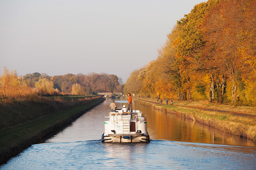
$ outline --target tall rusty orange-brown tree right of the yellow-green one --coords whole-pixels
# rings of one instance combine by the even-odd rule
[[[206,16],[204,23],[205,39],[208,41],[205,55],[212,57],[211,65],[217,65],[223,77],[223,86],[227,77],[232,81],[232,103],[237,99],[238,73],[245,65],[241,51],[246,35],[241,28],[245,22],[244,14],[253,1],[223,1]],[[240,53],[240,54],[239,54]],[[246,66],[247,67],[247,66]],[[244,67],[245,68],[245,67]],[[239,85],[241,86],[241,85]]]

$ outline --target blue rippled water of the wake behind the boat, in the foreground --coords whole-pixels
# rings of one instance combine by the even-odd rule
[[[255,147],[91,140],[35,144],[1,169],[255,169],[255,156]]]

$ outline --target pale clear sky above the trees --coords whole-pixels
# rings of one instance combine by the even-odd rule
[[[0,74],[4,66],[21,76],[103,72],[126,82],[201,2],[1,0]]]

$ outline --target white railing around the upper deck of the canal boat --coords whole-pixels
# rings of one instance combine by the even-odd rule
[[[142,113],[117,113],[117,112],[113,112],[113,113],[109,113],[109,115],[105,115],[104,114],[104,119],[106,121],[106,118],[109,119],[110,121],[123,121],[123,118],[125,117],[125,119],[127,119],[127,117],[130,118],[130,120],[136,120],[138,118],[138,120],[143,121],[144,117],[144,121],[146,121],[147,119],[147,114],[142,114]]]

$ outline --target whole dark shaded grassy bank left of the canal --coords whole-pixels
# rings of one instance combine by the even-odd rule
[[[44,141],[104,100],[84,96],[46,97],[40,102],[16,101],[2,106],[0,164],[31,144]]]

